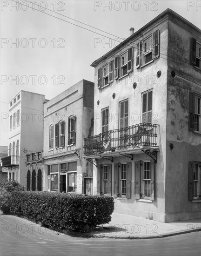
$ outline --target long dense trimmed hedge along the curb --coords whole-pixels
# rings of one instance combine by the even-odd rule
[[[42,222],[52,229],[88,232],[111,221],[114,198],[54,192],[13,191],[7,213]]]

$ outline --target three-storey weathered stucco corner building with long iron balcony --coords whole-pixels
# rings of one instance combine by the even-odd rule
[[[95,67],[94,194],[161,222],[201,216],[201,30],[167,9]]]

